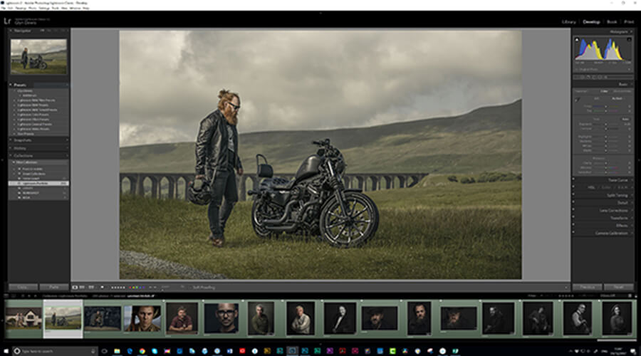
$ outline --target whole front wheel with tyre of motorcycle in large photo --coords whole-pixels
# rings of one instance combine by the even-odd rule
[[[320,211],[320,234],[335,247],[357,247],[376,233],[378,208],[370,197],[359,192],[345,193],[345,211],[333,197]]]

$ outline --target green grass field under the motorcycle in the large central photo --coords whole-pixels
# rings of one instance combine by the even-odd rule
[[[260,239],[251,201],[236,204],[226,246],[213,248],[204,242],[206,207],[123,194],[120,248],[234,279],[521,278],[521,182],[368,195],[380,211],[377,234],[360,248],[338,249],[316,238]],[[144,278],[132,271],[121,265],[121,278]]]

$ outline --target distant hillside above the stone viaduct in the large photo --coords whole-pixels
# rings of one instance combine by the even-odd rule
[[[312,140],[325,138],[343,152],[348,173],[520,172],[521,100],[373,127],[241,134],[241,160],[246,172],[254,172],[261,153],[275,172],[296,172],[316,152]],[[194,172],[194,164],[194,142],[120,148],[121,172]]]

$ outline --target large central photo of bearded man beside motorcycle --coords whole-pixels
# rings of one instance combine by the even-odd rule
[[[522,59],[515,30],[120,31],[120,278],[521,279]]]

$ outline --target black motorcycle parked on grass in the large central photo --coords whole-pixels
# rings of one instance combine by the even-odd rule
[[[258,177],[265,178],[254,196],[251,223],[261,237],[282,232],[322,236],[332,246],[364,244],[378,229],[378,209],[361,189],[345,189],[345,160],[330,140],[314,141],[316,155],[307,157],[289,181],[273,177],[264,155],[256,155]],[[259,164],[259,158],[264,164]]]

